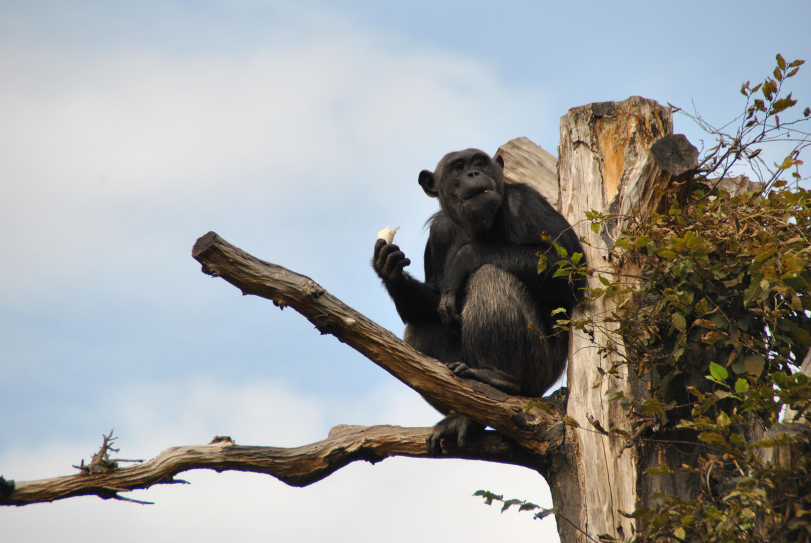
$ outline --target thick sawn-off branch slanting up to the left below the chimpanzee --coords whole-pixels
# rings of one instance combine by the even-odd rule
[[[197,240],[192,256],[203,264],[205,273],[222,277],[243,294],[293,307],[322,334],[333,334],[431,402],[487,424],[531,452],[544,454],[563,438],[559,415],[538,406],[524,413],[529,399],[507,395],[472,379],[457,378],[440,361],[418,353],[309,277],[257,259],[213,232]]]

